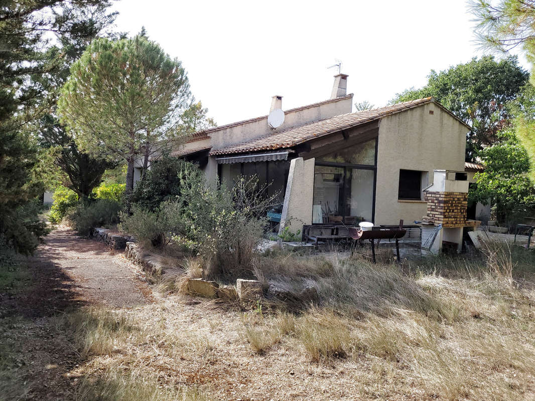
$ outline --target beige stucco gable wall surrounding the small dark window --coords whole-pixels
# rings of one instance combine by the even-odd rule
[[[376,225],[422,219],[427,209],[424,201],[398,200],[400,169],[427,171],[430,181],[434,169],[464,171],[467,132],[466,126],[434,103],[380,121]]]

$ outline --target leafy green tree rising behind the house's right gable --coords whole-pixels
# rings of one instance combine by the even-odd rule
[[[432,70],[423,88],[408,89],[396,95],[392,103],[433,96],[472,126],[467,137],[467,161],[473,161],[476,152],[493,144],[500,130],[510,124],[506,105],[518,96],[528,77],[516,57],[473,58],[439,73]]]

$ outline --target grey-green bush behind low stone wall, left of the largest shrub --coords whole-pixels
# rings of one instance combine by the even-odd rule
[[[176,201],[165,201],[156,211],[134,205],[132,214],[120,213],[120,220],[119,229],[135,235],[142,244],[164,245],[180,226],[180,204]]]

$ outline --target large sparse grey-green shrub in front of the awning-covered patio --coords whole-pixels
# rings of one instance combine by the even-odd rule
[[[200,253],[208,275],[250,269],[262,239],[265,213],[276,196],[266,196],[255,178],[239,178],[232,189],[225,183],[210,188],[202,172],[188,166],[180,176],[181,224],[173,239]]]

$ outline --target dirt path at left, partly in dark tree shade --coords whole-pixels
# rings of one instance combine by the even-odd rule
[[[79,378],[69,372],[83,361],[57,318],[82,306],[147,305],[151,290],[123,253],[65,227],[21,264],[23,288],[0,288],[0,399],[75,399]]]

